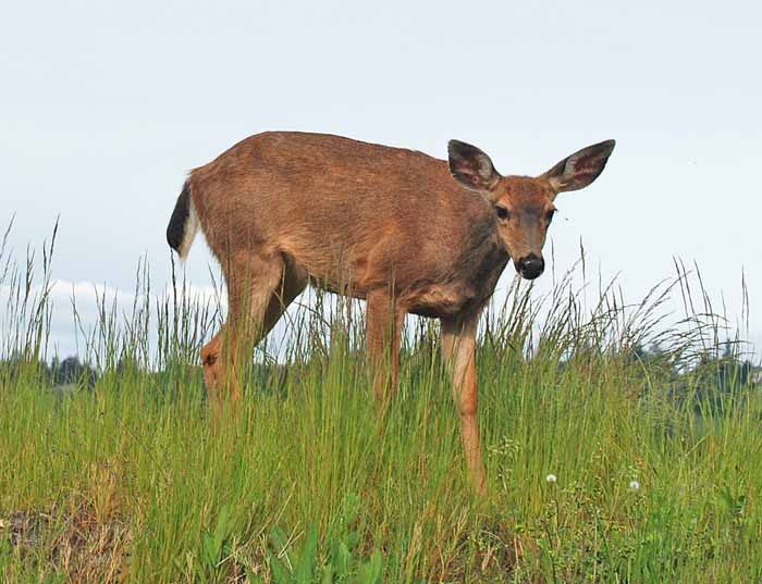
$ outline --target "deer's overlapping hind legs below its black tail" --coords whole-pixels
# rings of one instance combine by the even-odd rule
[[[285,307],[304,289],[280,253],[256,253],[223,266],[228,282],[228,320],[201,349],[204,377],[216,415],[228,396],[241,398],[241,365],[270,332]]]

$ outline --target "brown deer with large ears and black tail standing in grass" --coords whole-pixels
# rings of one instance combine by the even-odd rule
[[[210,401],[219,408],[224,388],[239,398],[236,363],[308,284],[366,300],[380,400],[396,386],[404,315],[438,318],[471,481],[483,492],[479,314],[509,259],[527,279],[542,274],[553,200],[591,184],[613,149],[607,140],[540,176],[502,176],[484,152],[457,140],[443,161],[339,136],[273,132],[195,169],[167,239],[184,260],[200,226],[222,264],[228,320],[201,349]]]

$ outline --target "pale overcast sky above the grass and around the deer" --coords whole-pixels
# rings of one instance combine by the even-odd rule
[[[674,257],[696,261],[732,315],[745,271],[760,341],[761,18],[733,0],[13,2],[0,21],[0,225],[15,213],[23,254],[61,215],[65,353],[72,285],[131,291],[146,256],[161,287],[185,173],[250,134],[439,158],[458,138],[503,174],[615,138],[597,183],[556,201],[557,269],[581,238],[588,265],[638,300]],[[209,262],[199,239],[195,285],[209,285]]]

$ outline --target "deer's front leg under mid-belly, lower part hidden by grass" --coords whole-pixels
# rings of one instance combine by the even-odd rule
[[[366,297],[368,364],[373,395],[385,402],[397,387],[400,339],[405,311],[388,290],[373,290]]]

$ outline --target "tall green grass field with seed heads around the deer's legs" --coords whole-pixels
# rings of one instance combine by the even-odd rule
[[[48,276],[9,265],[2,582],[762,582],[762,401],[683,272],[634,307],[567,279],[491,307],[480,500],[433,323],[408,326],[381,412],[358,305],[319,298],[212,432],[213,310],[140,275],[144,301],[82,333],[97,376],[53,386]]]

